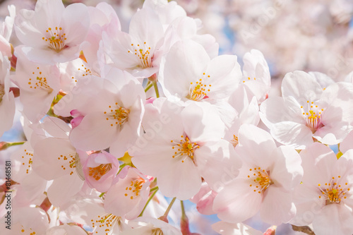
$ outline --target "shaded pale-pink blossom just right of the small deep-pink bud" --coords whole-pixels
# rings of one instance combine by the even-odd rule
[[[145,92],[136,78],[117,68],[112,68],[104,79],[92,80],[80,89],[88,87],[96,95],[74,97],[80,103],[76,110],[84,117],[71,131],[71,143],[85,151],[110,147],[112,155],[122,157],[140,134]]]

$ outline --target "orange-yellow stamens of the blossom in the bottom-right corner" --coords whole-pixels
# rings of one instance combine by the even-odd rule
[[[338,176],[338,179],[335,180],[335,177],[332,177],[330,183],[325,183],[325,185],[321,185],[318,183],[318,188],[321,191],[321,195],[325,199],[325,205],[330,204],[340,204],[342,199],[346,199],[346,194],[350,191],[348,188],[348,183],[340,184],[341,176]],[[321,195],[318,198],[321,198]]]

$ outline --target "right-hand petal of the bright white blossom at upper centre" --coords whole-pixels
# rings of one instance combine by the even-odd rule
[[[237,62],[237,56],[222,55],[210,61],[205,71],[210,76],[210,92],[208,97],[212,99],[223,99],[237,88],[241,79],[241,69]]]

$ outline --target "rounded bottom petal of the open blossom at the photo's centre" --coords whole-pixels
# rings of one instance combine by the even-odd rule
[[[201,176],[189,157],[184,162],[174,158],[160,170],[157,185],[166,197],[188,200],[200,190]]]

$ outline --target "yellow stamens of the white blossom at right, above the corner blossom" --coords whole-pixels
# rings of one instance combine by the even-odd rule
[[[305,108],[302,106],[300,108],[303,112],[304,118],[306,119],[306,126],[309,126],[309,128],[311,128],[311,131],[315,133],[318,128],[323,127],[321,117],[323,116],[324,109],[319,109],[318,105],[315,105],[309,100],[306,103],[307,106]]]

